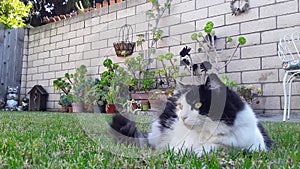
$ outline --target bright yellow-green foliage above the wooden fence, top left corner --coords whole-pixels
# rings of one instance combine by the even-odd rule
[[[20,0],[0,1],[0,26],[4,28],[24,27],[24,19],[29,16],[32,4],[25,5]]]

